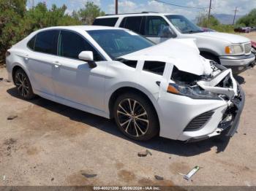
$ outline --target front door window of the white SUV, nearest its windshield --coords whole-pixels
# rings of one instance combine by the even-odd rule
[[[161,31],[169,27],[164,18],[159,16],[149,16],[146,18],[145,35],[146,36],[160,36]]]

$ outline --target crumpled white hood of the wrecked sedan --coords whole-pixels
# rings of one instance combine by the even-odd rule
[[[169,39],[152,47],[122,55],[120,58],[172,63],[179,70],[196,75],[211,74],[212,71],[209,61],[200,56],[194,39]]]

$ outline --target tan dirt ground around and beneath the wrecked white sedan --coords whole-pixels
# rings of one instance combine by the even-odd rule
[[[0,77],[7,77],[5,69]],[[246,92],[238,133],[230,140],[184,144],[162,138],[131,141],[113,121],[43,98],[23,101],[12,83],[1,80],[0,186],[256,186],[256,69],[245,71],[238,81]],[[18,117],[7,120],[10,115]],[[152,155],[138,157],[146,149]],[[178,174],[195,165],[202,168],[192,181]]]

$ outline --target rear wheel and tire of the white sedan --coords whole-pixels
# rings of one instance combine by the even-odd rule
[[[26,100],[34,98],[35,95],[33,93],[29,77],[26,75],[23,69],[18,69],[15,71],[14,83],[20,97]]]

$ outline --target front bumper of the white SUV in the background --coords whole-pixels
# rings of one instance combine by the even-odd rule
[[[232,69],[233,74],[239,74],[242,71],[255,66],[255,54],[251,53],[250,55],[220,56],[219,61],[223,66]]]

